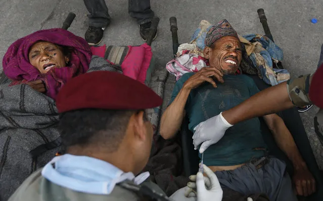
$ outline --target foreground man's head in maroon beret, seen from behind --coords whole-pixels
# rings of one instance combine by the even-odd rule
[[[162,99],[146,85],[115,72],[73,78],[56,99],[67,153],[139,173],[149,159],[153,138],[144,110],[161,104]]]

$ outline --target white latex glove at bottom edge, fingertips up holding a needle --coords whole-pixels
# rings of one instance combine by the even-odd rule
[[[196,184],[194,185],[194,182],[189,182],[188,186],[191,183],[191,187],[196,187],[197,189],[197,201],[204,201],[204,200],[212,200],[212,201],[221,201],[223,191],[220,186],[219,180],[217,179],[214,172],[208,168],[206,165],[203,164],[203,169],[206,174],[206,177],[203,176],[202,172],[198,172],[197,175],[190,176],[190,179],[192,181],[196,181]],[[191,192],[190,192],[191,189]],[[186,195],[192,194],[192,188],[187,188]],[[189,196],[190,196],[189,195]]]

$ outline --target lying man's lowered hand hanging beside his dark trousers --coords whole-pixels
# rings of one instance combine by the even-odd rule
[[[315,179],[307,167],[295,169],[293,181],[298,195],[308,196],[316,191]]]

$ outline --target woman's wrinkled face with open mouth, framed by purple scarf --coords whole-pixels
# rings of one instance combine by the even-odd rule
[[[29,50],[29,62],[41,74],[45,74],[52,68],[62,68],[69,61],[68,56],[58,45],[50,42],[39,41],[33,44]]]

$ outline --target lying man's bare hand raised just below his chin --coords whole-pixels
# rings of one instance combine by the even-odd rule
[[[202,68],[199,72],[197,72],[194,76],[189,78],[183,85],[183,87],[186,87],[187,89],[195,89],[198,86],[200,86],[204,82],[208,82],[213,85],[213,87],[217,87],[214,80],[212,79],[214,77],[217,81],[220,83],[223,83],[223,74],[214,67],[205,67]]]

